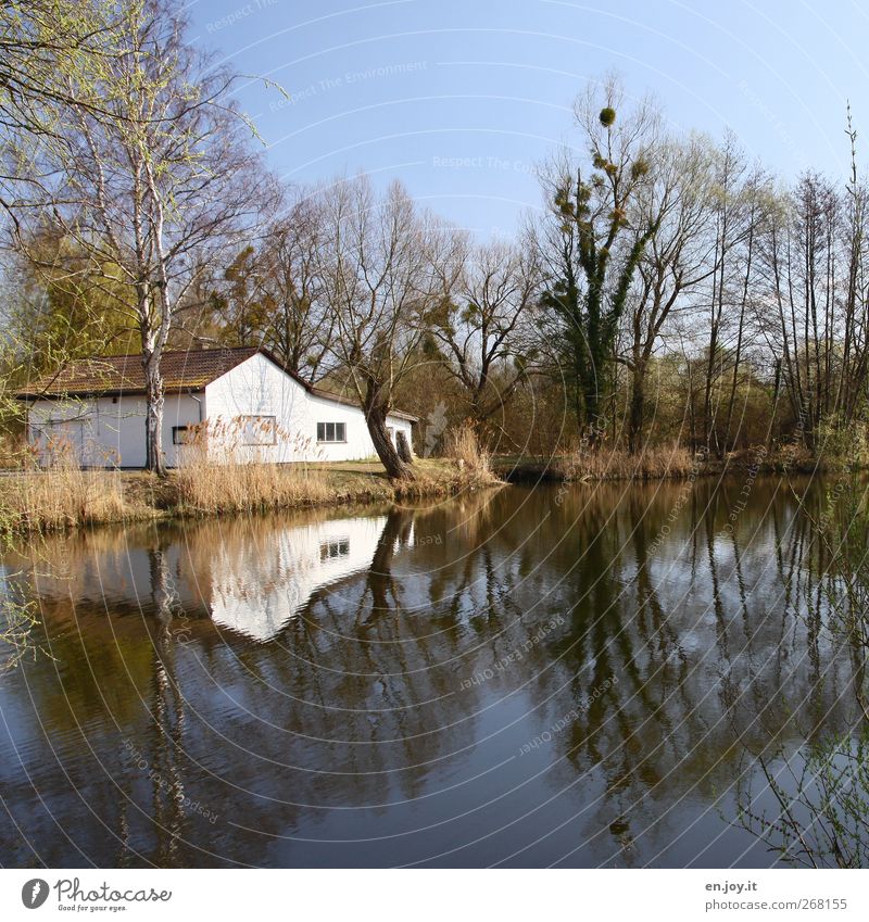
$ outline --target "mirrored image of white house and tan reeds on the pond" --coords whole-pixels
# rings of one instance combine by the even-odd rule
[[[389,551],[413,545],[413,520]],[[60,617],[171,612],[184,639],[204,636],[211,622],[257,643],[274,640],[316,597],[371,569],[383,555],[389,517],[269,517],[141,527],[59,539],[35,569],[41,605]],[[155,583],[154,555],[162,577]],[[18,566],[26,558],[16,557]],[[33,565],[33,561],[29,561]]]

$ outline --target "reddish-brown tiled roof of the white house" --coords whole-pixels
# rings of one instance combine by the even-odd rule
[[[164,352],[160,361],[164,390],[167,393],[202,390],[212,381],[216,381],[222,375],[257,353],[277,365],[281,371],[289,375],[313,396],[348,406],[358,406],[357,402],[349,396],[315,388],[284,366],[268,350],[255,345]],[[18,391],[16,396],[20,400],[50,400],[52,397],[119,396],[143,393],[142,358],[140,354],[135,354],[75,359],[55,375],[34,381],[29,387]],[[390,416],[407,419],[411,422],[417,421],[416,416],[400,409],[391,411]]]

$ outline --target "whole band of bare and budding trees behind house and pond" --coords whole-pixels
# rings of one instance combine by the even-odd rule
[[[395,406],[426,455],[468,427],[511,456],[856,457],[867,186],[849,112],[849,175],[785,181],[605,76],[576,100],[571,146],[541,151],[540,206],[481,241],[400,181],[281,182],[232,102],[239,75],[186,45],[172,0],[0,17],[8,455],[16,389],[140,352],[162,472],[163,353],[262,344],[352,395],[399,479]]]

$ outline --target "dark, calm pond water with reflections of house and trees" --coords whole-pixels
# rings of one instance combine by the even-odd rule
[[[756,757],[854,718],[777,479],[509,487],[7,555],[0,860],[768,867]],[[813,502],[822,502],[815,489]],[[747,502],[746,502],[747,498]]]

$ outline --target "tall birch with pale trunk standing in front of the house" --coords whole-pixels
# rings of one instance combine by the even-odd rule
[[[68,144],[49,159],[52,182],[35,201],[103,273],[108,293],[122,283],[141,341],[147,466],[161,475],[160,362],[177,311],[255,218],[267,186],[228,99],[234,75],[187,45],[185,27],[163,0],[125,8],[117,53],[96,79],[108,113],[72,102]]]

